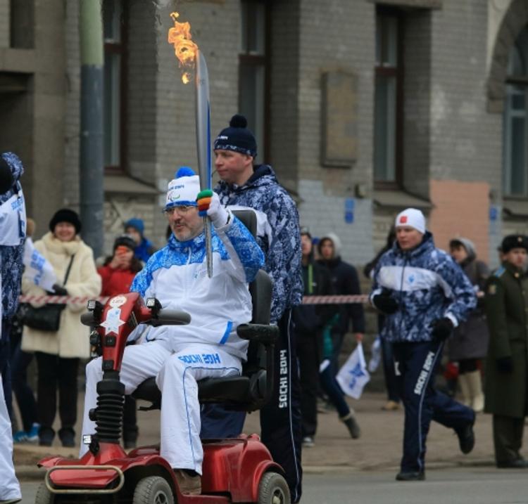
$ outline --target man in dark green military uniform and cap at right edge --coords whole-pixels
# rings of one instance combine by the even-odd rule
[[[528,468],[519,453],[528,408],[528,278],[524,276],[528,238],[508,235],[503,264],[486,285],[489,349],[486,405],[492,413],[497,467]]]

